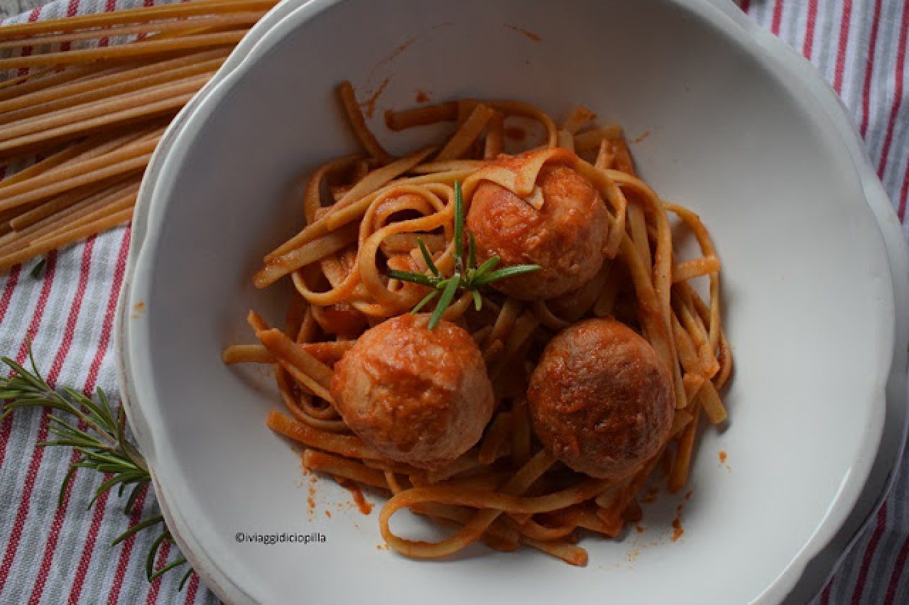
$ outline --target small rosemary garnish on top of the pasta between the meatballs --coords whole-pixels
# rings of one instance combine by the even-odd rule
[[[433,289],[425,295],[422,301],[416,304],[412,311],[414,313],[419,312],[438,296],[439,300],[435,303],[435,310],[429,319],[430,330],[435,328],[442,320],[445,309],[454,300],[454,295],[459,290],[464,290],[473,295],[474,308],[479,311],[483,306],[483,297],[479,292],[481,286],[503,280],[506,277],[531,273],[540,269],[538,264],[515,264],[495,269],[502,262],[498,255],[492,256],[477,267],[476,240],[474,239],[474,233],[470,232],[467,233],[467,258],[466,261],[464,260],[464,200],[459,181],[454,182],[454,252],[452,253],[454,257],[454,273],[448,277],[442,275],[423,239],[417,238],[416,243],[420,247],[420,253],[423,254],[429,273],[412,273],[389,269],[388,277],[402,282],[419,283]]]

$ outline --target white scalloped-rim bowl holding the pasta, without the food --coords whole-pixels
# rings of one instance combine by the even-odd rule
[[[584,103],[631,138],[649,132],[633,148],[644,178],[711,228],[736,353],[732,422],[705,431],[679,541],[667,539],[669,495],[645,511],[643,534],[584,541],[584,569],[479,547],[407,560],[376,549],[375,513],[307,515],[298,456],[265,427],[279,406],[268,376],[225,367],[220,351],[250,341],[247,309],[285,306],[286,291],[250,278],[299,227],[300,174],[353,148],[335,84],[386,77],[373,123],[395,151],[429,136],[380,125],[417,89],[556,115]],[[121,385],[181,550],[229,602],[804,600],[901,448],[906,259],[833,93],[726,0],[288,1],[180,114],[145,174]],[[320,510],[347,500],[329,481],[317,497]],[[327,541],[235,541],[282,531]]]

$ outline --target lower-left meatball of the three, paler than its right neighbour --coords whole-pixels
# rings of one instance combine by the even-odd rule
[[[435,469],[479,441],[493,385],[474,339],[451,322],[407,313],[363,333],[335,364],[335,408],[394,461]]]

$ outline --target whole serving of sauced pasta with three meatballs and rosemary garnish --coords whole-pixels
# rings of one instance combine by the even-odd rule
[[[435,559],[483,541],[584,565],[581,537],[640,519],[652,476],[680,490],[699,427],[726,420],[733,360],[707,229],[584,106],[560,124],[517,101],[388,112],[392,131],[451,124],[396,157],[353,87],[338,96],[362,150],[310,176],[302,228],[254,278],[293,284],[286,317],[250,312],[258,343],[225,362],[272,365],[286,411],[266,422],[307,469],[390,496],[379,524],[394,550]],[[683,238],[700,255],[684,260]],[[398,535],[401,509],[452,530]]]

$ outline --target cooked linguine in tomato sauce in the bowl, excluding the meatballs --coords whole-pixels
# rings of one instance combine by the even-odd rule
[[[721,325],[720,262],[698,216],[666,203],[634,172],[621,128],[596,125],[579,106],[561,125],[530,104],[463,100],[389,112],[393,131],[449,122],[454,133],[403,157],[389,154],[365,125],[350,84],[341,103],[363,150],[320,166],[305,188],[304,226],[265,256],[255,285],[294,285],[285,324],[250,312],[259,344],[227,347],[227,363],[272,364],[286,412],[270,412],[274,431],[305,446],[306,468],[388,493],[379,525],[387,543],[419,559],[445,557],[475,541],[496,550],[522,544],[583,565],[581,534],[621,534],[640,514],[637,497],[657,469],[670,491],[688,479],[701,418],[726,420],[720,393],[733,359]],[[494,162],[509,145],[504,124],[533,120],[540,144]],[[608,210],[602,269],[570,296],[518,300],[483,287],[464,290],[442,314],[469,331],[494,386],[494,413],[483,437],[442,468],[391,461],[357,437],[335,409],[333,366],[370,326],[410,312],[427,286],[389,271],[455,271],[455,183],[469,208],[480,183],[497,183],[534,208],[545,203],[544,166],[570,167],[593,184]],[[702,255],[681,260],[670,217],[694,235]],[[425,252],[421,251],[421,243]],[[692,281],[706,278],[706,299]],[[474,300],[476,298],[477,300]],[[476,303],[481,306],[477,308]],[[432,309],[432,304],[427,310]],[[567,326],[612,317],[639,332],[671,374],[674,417],[658,453],[620,480],[597,479],[557,461],[534,436],[526,376],[544,345]],[[662,462],[662,463],[661,463]],[[413,541],[389,521],[408,509],[454,528],[445,540]]]

